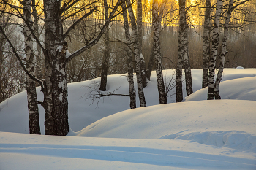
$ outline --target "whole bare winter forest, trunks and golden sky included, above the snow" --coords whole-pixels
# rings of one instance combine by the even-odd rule
[[[68,82],[101,77],[105,91],[107,74],[127,73],[133,109],[135,91],[146,107],[152,70],[165,104],[163,69],[176,70],[180,102],[182,74],[193,93],[191,69],[203,69],[208,99],[220,99],[224,67],[256,66],[255,0],[1,0],[0,10],[0,102],[27,90],[31,134],[40,134],[37,104],[45,134],[68,133]]]

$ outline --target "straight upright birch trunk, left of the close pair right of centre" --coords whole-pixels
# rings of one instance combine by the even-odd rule
[[[176,102],[183,100],[182,92],[182,66],[183,66],[183,55],[184,55],[184,28],[185,23],[185,0],[179,0],[179,30],[178,30],[178,61],[176,69]]]

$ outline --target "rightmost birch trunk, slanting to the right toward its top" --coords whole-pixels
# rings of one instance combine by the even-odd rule
[[[227,11],[227,17],[225,19],[225,25],[224,25],[224,36],[222,39],[222,52],[219,56],[219,71],[216,77],[215,85],[214,85],[214,97],[215,99],[221,99],[219,95],[219,83],[222,80],[222,73],[224,69],[225,64],[225,55],[227,53],[227,36],[228,36],[228,27],[230,23],[231,13],[233,11],[233,0],[230,0],[229,8]]]

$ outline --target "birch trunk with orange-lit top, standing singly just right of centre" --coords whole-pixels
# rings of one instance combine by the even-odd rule
[[[165,83],[162,76],[162,57],[160,55],[160,39],[159,39],[159,32],[160,32],[160,21],[159,18],[159,9],[158,9],[158,1],[153,0],[152,4],[152,26],[153,26],[153,48],[154,48],[154,59],[156,62],[156,72],[157,72],[157,88],[159,93],[159,104],[166,104],[167,98],[165,93]],[[162,17],[162,16],[160,16]]]

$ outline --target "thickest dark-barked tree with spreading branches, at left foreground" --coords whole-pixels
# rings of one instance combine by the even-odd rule
[[[75,3],[78,1],[67,1],[66,4],[61,6],[61,1],[59,0],[44,0],[44,13],[45,13],[45,47],[39,42],[39,39],[34,35],[33,29],[26,22],[26,26],[29,27],[31,34],[34,39],[36,39],[38,45],[41,47],[42,52],[45,56],[45,80],[39,80],[29,73],[29,71],[23,66],[23,62],[15,50],[15,47],[10,42],[10,39],[4,34],[3,29],[0,26],[0,31],[4,37],[9,42],[12,47],[13,52],[20,61],[20,65],[23,66],[26,74],[29,75],[33,80],[37,81],[42,88],[44,94],[44,101],[39,102],[45,109],[45,134],[48,135],[66,135],[69,132],[68,123],[68,101],[67,101],[67,74],[66,74],[66,64],[72,58],[80,55],[84,51],[88,50],[90,47],[95,45],[102,34],[104,34],[105,28],[108,27],[110,20],[115,17],[116,9],[120,5],[120,0],[118,0],[115,7],[113,7],[112,12],[107,21],[105,21],[104,26],[99,31],[99,34],[94,40],[89,42],[86,46],[80,48],[75,53],[69,55],[67,53],[67,42],[64,39],[67,37],[69,32],[75,28],[75,26],[83,20],[83,18],[91,15],[95,11],[96,7],[91,7],[90,11],[83,15],[79,20],[77,20],[67,31],[64,33],[62,26],[61,14],[67,12],[67,10],[75,7]],[[4,3],[8,4],[7,1]],[[12,4],[8,4],[10,7],[16,9],[20,18],[24,21],[23,15],[20,13],[17,7]],[[66,19],[69,17],[66,17]]]

